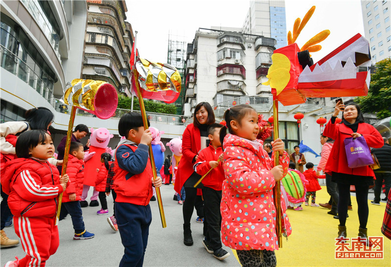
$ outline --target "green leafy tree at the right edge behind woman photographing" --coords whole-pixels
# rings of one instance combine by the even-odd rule
[[[378,119],[391,116],[391,59],[379,61],[370,75],[367,96],[360,96],[355,101],[364,113],[376,113]]]

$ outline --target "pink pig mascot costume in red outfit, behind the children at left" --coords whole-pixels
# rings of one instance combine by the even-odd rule
[[[83,193],[82,200],[86,200],[88,196],[88,190],[90,186],[94,187],[94,191],[91,200],[97,200],[99,192],[95,190],[95,180],[98,173],[96,169],[100,169],[102,166],[101,155],[105,152],[110,153],[111,149],[107,147],[110,139],[114,136],[109,133],[106,128],[99,128],[91,130],[91,136],[89,137],[89,150],[88,153],[95,152],[95,155],[90,157],[84,163],[84,182],[83,182]],[[111,154],[111,153],[110,153]]]

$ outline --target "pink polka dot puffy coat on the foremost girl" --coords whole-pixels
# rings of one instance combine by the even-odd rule
[[[263,141],[250,141],[227,134],[223,142],[224,175],[222,188],[221,240],[233,249],[278,249],[276,208],[273,187],[276,183],[270,170],[272,159],[263,150]],[[289,155],[280,156],[286,175]],[[281,195],[282,233],[290,235],[292,228],[286,216]]]

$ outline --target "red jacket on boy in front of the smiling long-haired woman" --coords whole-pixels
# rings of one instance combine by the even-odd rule
[[[218,156],[222,153],[223,150],[221,147],[215,150],[212,145],[209,145],[209,147],[201,150],[194,165],[194,169],[197,174],[202,176],[205,175],[211,169],[209,161],[217,161]],[[218,166],[202,179],[202,184],[214,190],[221,191],[224,179],[223,163],[219,162]]]

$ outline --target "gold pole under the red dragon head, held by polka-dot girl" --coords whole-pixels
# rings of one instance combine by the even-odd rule
[[[278,129],[278,100],[273,95],[273,137],[274,141],[279,138]],[[279,152],[274,152],[274,165],[280,165],[279,163]],[[276,181],[274,187],[274,205],[276,206],[276,234],[278,238],[278,247],[282,247],[282,225],[281,225],[281,186],[280,181]]]

